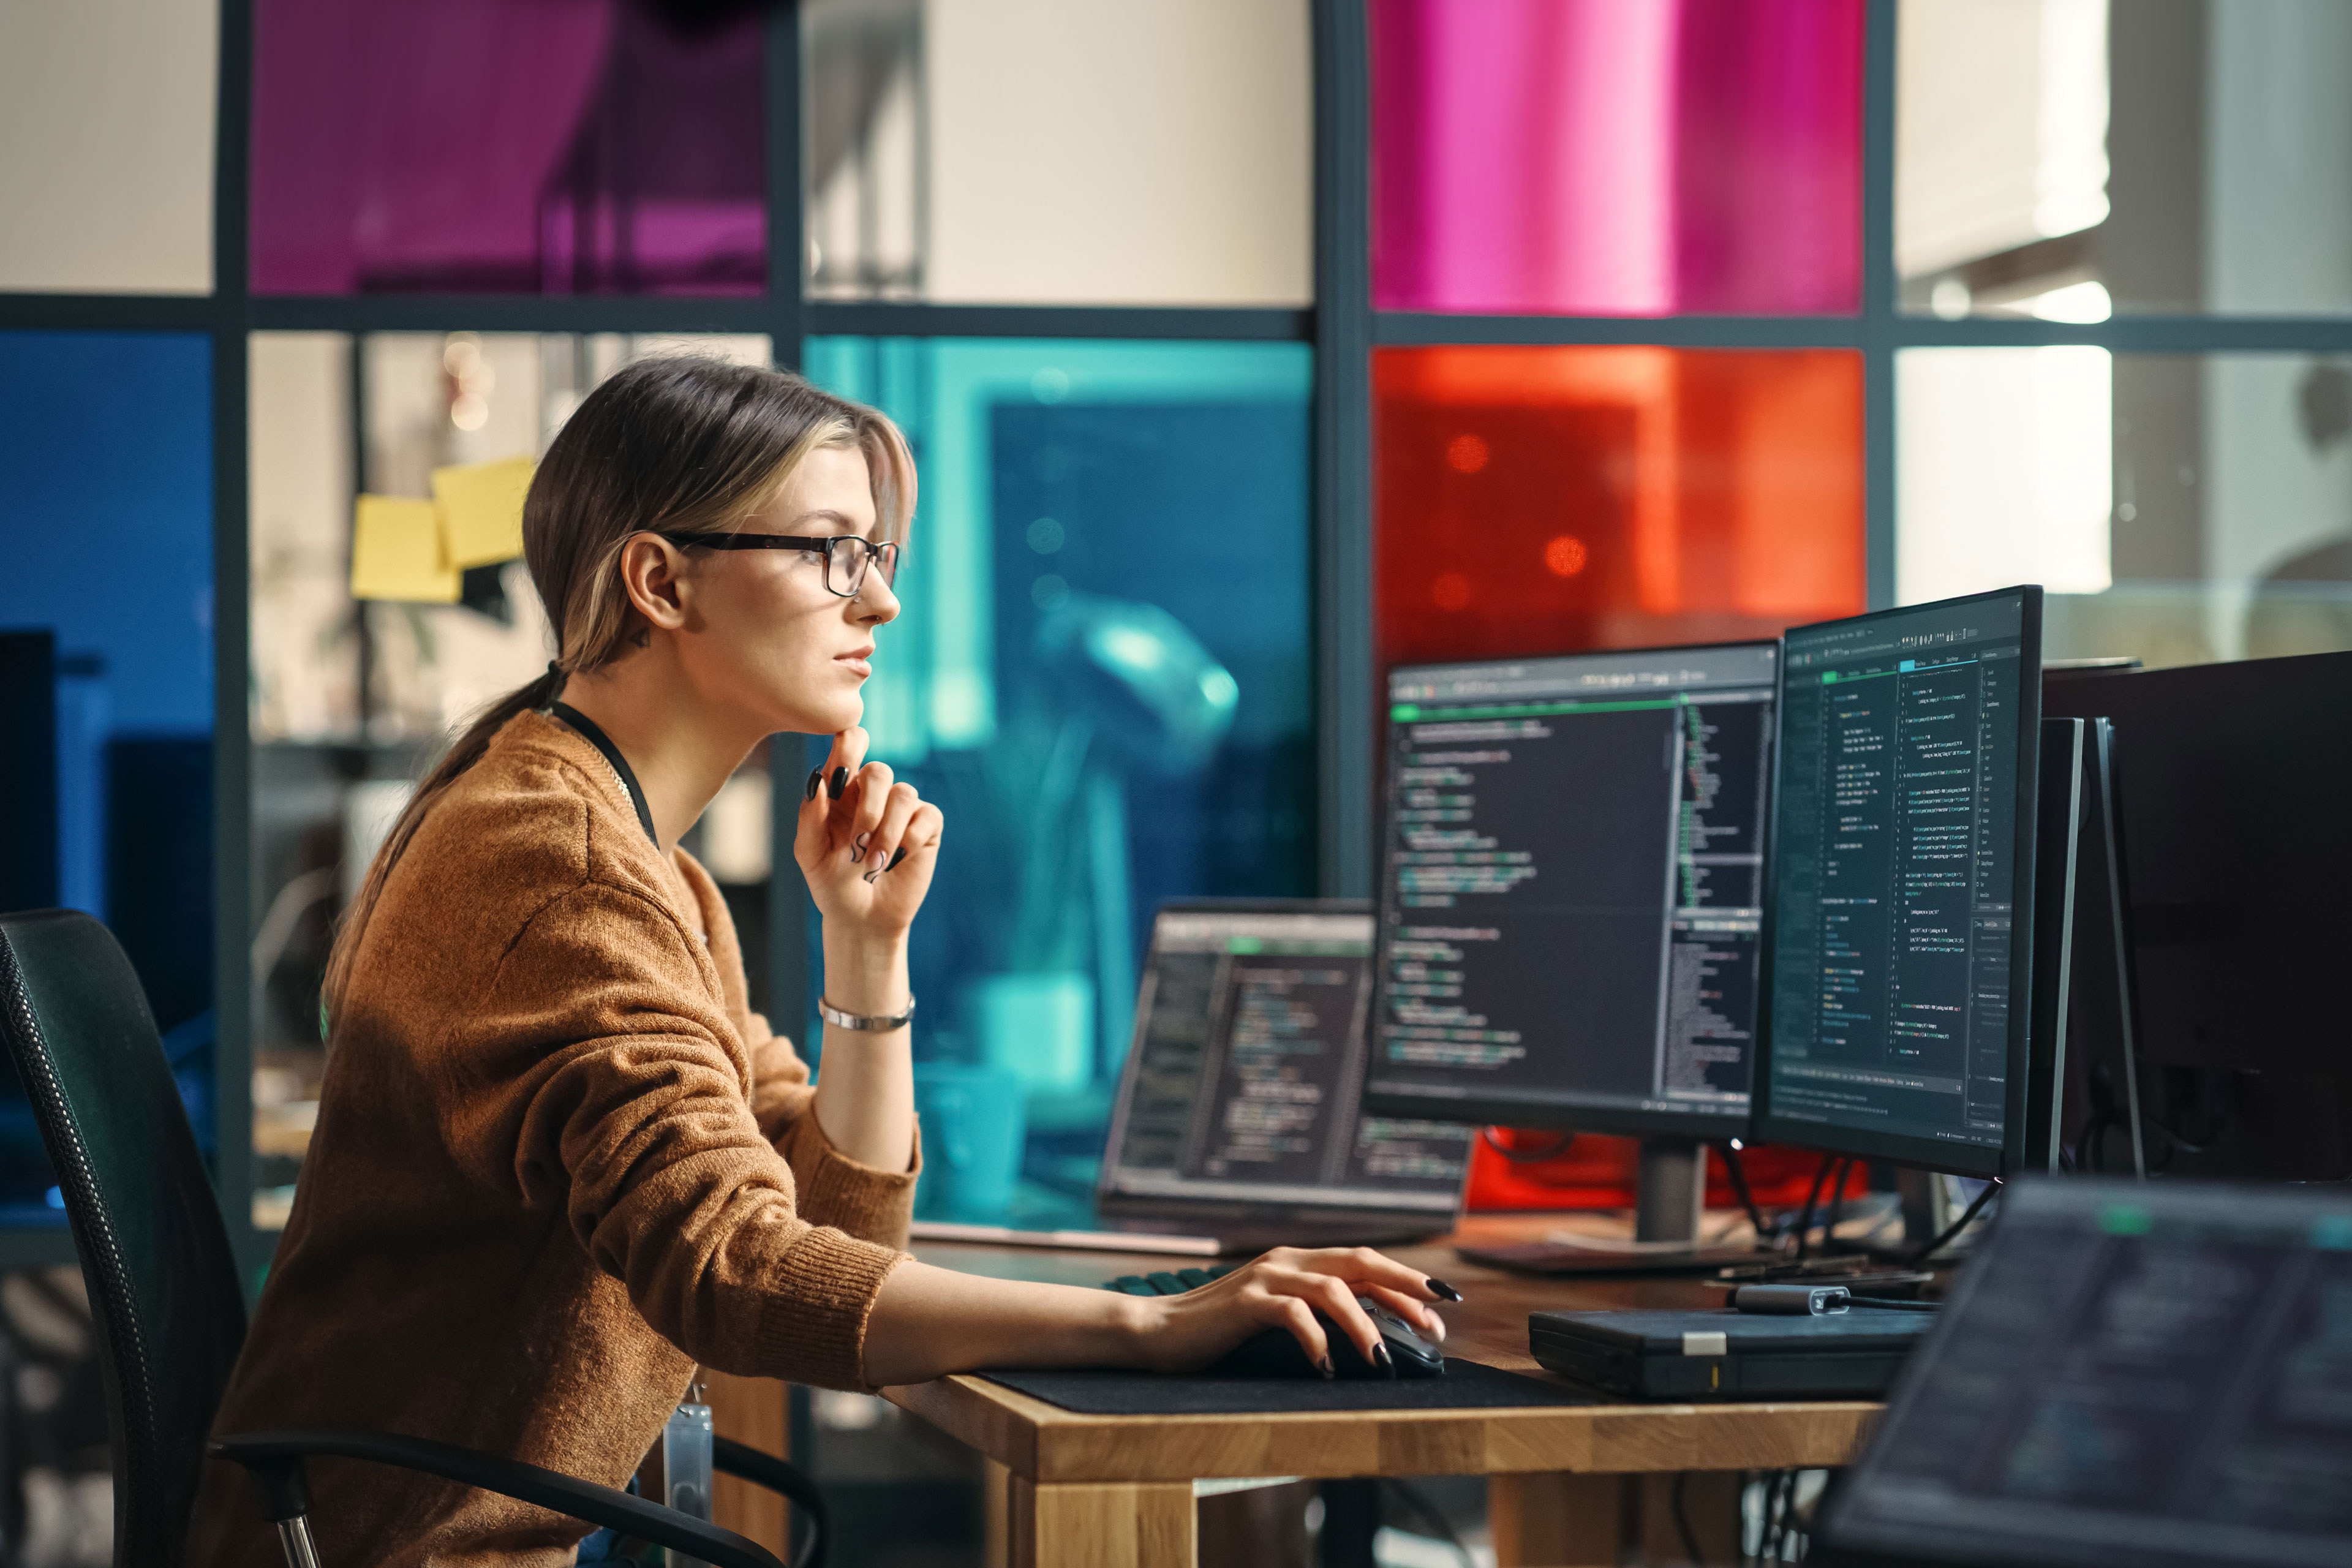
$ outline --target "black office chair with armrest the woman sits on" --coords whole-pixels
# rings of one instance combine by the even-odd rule
[[[207,1432],[245,1342],[228,1229],[139,976],[106,926],[73,910],[0,914],[0,1037],[33,1100],[89,1284],[115,1450],[115,1563],[176,1568]],[[318,1568],[308,1455],[477,1486],[715,1568],[783,1568],[734,1530],[656,1502],[395,1432],[245,1432],[212,1439],[209,1450],[252,1474],[289,1568]],[[790,1497],[814,1526],[795,1568],[821,1568],[826,1500],[814,1481],[729,1439],[717,1439],[713,1462]]]

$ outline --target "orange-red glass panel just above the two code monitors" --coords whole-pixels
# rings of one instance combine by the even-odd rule
[[[1383,348],[1374,400],[1383,670],[1863,609],[1851,350]]]

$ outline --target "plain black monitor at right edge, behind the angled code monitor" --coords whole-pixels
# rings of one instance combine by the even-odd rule
[[[2143,1103],[2173,1173],[2352,1171],[2352,654],[2044,691],[2114,722]]]

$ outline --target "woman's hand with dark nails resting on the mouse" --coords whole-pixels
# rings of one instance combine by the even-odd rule
[[[1421,1338],[1444,1342],[1430,1276],[1369,1246],[1279,1246],[1197,1291],[1129,1300],[1141,1312],[1143,1363],[1157,1373],[1200,1371],[1265,1328],[1287,1328],[1308,1361],[1329,1371],[1331,1345],[1315,1312],[1338,1324],[1367,1361],[1376,1359],[1381,1331],[1357,1295],[1381,1302]]]

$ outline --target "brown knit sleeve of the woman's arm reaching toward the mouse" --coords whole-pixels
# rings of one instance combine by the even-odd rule
[[[866,1319],[903,1253],[800,1211],[696,947],[640,891],[555,898],[459,1025],[445,1126],[480,1180],[560,1213],[684,1354],[863,1389]]]

